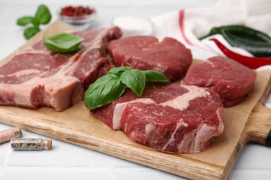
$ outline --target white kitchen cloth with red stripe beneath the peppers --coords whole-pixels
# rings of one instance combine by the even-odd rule
[[[154,36],[158,39],[173,37],[178,39],[192,51],[197,60],[223,55],[212,37],[219,40],[231,51],[241,55],[253,56],[249,52],[232,47],[222,35],[213,35],[199,41],[215,26],[241,24],[271,35],[271,1],[270,0],[220,0],[212,7],[188,8],[168,12],[151,18],[154,24]],[[271,66],[261,66],[257,71],[271,69]],[[265,102],[271,107],[271,97]]]

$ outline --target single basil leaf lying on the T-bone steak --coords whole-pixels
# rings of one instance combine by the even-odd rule
[[[83,37],[67,33],[60,33],[51,37],[43,37],[44,45],[54,53],[76,51],[83,40]]]

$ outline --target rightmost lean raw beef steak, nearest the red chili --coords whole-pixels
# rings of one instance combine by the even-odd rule
[[[256,73],[227,57],[215,56],[193,64],[182,84],[208,87],[221,98],[224,107],[238,104],[254,88]]]

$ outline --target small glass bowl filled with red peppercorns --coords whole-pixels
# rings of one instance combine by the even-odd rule
[[[92,25],[97,12],[89,6],[65,6],[57,12],[61,21],[72,26],[75,30],[86,30]]]

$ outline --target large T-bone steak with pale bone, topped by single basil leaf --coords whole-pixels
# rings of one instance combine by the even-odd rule
[[[52,53],[43,42],[18,53],[0,68],[0,104],[63,111],[83,100],[90,83],[110,69],[105,44],[120,28],[74,33],[85,40],[75,53]]]

